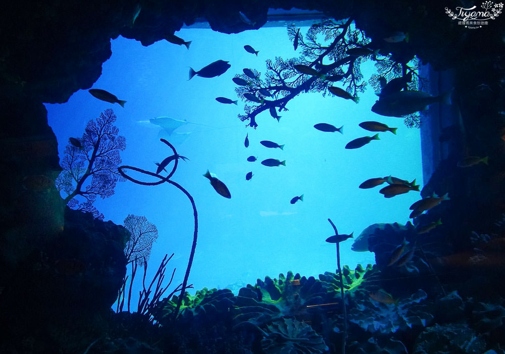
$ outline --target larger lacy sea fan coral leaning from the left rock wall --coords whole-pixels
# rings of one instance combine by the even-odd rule
[[[110,197],[116,182],[123,180],[117,167],[121,164],[120,151],[126,148],[126,140],[118,135],[116,119],[113,110],[105,110],[86,124],[82,137],[71,138],[73,143],[65,147],[60,162],[63,171],[56,179],[58,190],[67,194],[65,204],[91,212],[99,219],[104,216],[93,206],[96,197]]]

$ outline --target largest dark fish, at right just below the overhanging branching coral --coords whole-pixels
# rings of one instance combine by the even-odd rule
[[[426,111],[434,103],[450,105],[452,89],[438,96],[422,91],[399,91],[380,99],[372,106],[372,112],[386,117],[403,117],[414,112]]]

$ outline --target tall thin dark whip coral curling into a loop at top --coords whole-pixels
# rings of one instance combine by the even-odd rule
[[[174,145],[172,145],[170,142],[168,142],[165,139],[160,139],[160,140],[163,143],[167,144],[172,149],[172,151],[174,153],[174,157],[179,157],[180,156],[180,155],[177,154],[177,151],[176,151]],[[179,313],[179,309],[181,307],[181,301],[182,301],[182,298],[184,297],[182,295],[184,294],[185,290],[188,288],[187,281],[188,281],[188,278],[189,278],[189,272],[191,270],[191,265],[193,264],[194,252],[195,252],[195,249],[196,249],[196,239],[197,239],[197,236],[198,236],[198,213],[196,212],[196,205],[194,203],[194,199],[191,196],[191,194],[189,194],[189,192],[186,189],[184,189],[180,184],[178,184],[177,182],[174,182],[174,181],[170,180],[170,178],[174,175],[175,171],[177,170],[178,160],[179,160],[178,158],[174,158],[174,166],[172,168],[172,171],[170,171],[170,173],[166,177],[163,177],[163,176],[161,176],[158,173],[149,172],[149,171],[142,170],[140,168],[133,167],[133,166],[120,166],[120,167],[118,167],[118,172],[121,174],[121,176],[123,176],[124,178],[126,178],[129,181],[132,181],[132,182],[140,184],[140,185],[146,185],[146,186],[148,186],[148,185],[159,185],[159,184],[162,184],[162,183],[165,183],[165,182],[168,182],[168,183],[172,184],[173,186],[175,186],[179,190],[181,190],[188,197],[188,199],[189,199],[189,201],[191,203],[191,207],[193,208],[193,218],[194,218],[193,243],[191,245],[191,252],[189,254],[188,266],[186,268],[186,273],[184,274],[184,280],[182,282],[182,286],[181,286],[181,289],[180,289],[181,296],[179,296],[179,300],[177,302],[177,308],[175,309],[175,312],[174,312],[174,316],[175,317],[177,317],[177,315]],[[140,172],[140,173],[148,175],[148,176],[153,176],[153,177],[159,178],[160,180],[157,181],[157,182],[144,182],[144,181],[140,181],[140,180],[137,180],[137,179],[135,179],[133,177],[128,176],[123,170],[133,170],[133,171]]]

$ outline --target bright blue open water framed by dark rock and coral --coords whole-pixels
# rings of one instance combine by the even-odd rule
[[[301,32],[306,30],[302,28]],[[369,178],[387,175],[409,181],[417,178],[423,185],[419,130],[405,127],[400,118],[372,113],[376,96],[371,88],[359,95],[358,105],[331,94],[322,97],[304,93],[289,102],[289,111],[280,113],[280,122],[267,110],[257,117],[258,129],[246,128],[246,123],[237,118],[243,113],[243,102],[237,107],[220,104],[215,98],[237,99],[231,79],[243,68],[257,69],[263,77],[266,59],[297,56],[286,28],[231,35],[184,29],[176,34],[192,40],[189,50],[166,41],[148,47],[122,37],[112,42],[112,57],[104,63],[102,76],[93,88],[127,100],[125,108],[98,100],[87,90],[74,93],[65,104],[46,108],[59,141],[60,157],[69,137],[80,137],[88,120],[112,108],[120,135],[126,137],[123,164],[149,171],[155,171],[154,162],[172,155],[159,141],[161,128],[150,124],[149,118],[169,116],[192,123],[176,130],[190,133],[185,141],[179,141],[181,134],[174,140],[178,153],[189,161],[179,161],[172,180],[191,193],[198,210],[198,243],[189,277],[194,289],[235,289],[288,270],[305,276],[335,271],[335,246],[325,242],[333,234],[328,218],[339,233],[354,231],[355,237],[373,223],[405,224],[409,220],[409,206],[419,199],[418,192],[384,198],[378,192],[380,187],[358,188]],[[258,57],[247,53],[245,44],[259,50]],[[189,66],[199,70],[219,59],[231,64],[225,74],[210,79],[195,76],[188,81]],[[368,79],[375,68],[369,63],[362,71]],[[358,126],[367,120],[398,127],[397,135],[380,133],[381,140],[359,149],[344,149],[352,139],[373,135]],[[318,131],[313,127],[317,123],[343,125],[344,134]],[[243,144],[246,133],[248,148]],[[266,148],[260,145],[261,140],[285,144],[284,150]],[[257,156],[258,161],[247,162],[250,155]],[[286,167],[261,165],[267,158],[286,160]],[[231,199],[214,191],[203,177],[207,170],[228,186]],[[246,181],[249,171],[254,176]],[[291,205],[290,199],[300,194],[304,194],[304,201]],[[112,197],[98,198],[95,206],[105,220],[117,224],[122,224],[128,214],[145,216],[154,223],[159,238],[153,246],[147,279],[166,253],[175,252],[167,277],[177,268],[172,288],[182,282],[193,216],[180,190],[168,183],[148,187],[126,181],[118,183]],[[353,268],[358,263],[374,263],[371,252],[351,251],[352,242],[341,243],[342,264]],[[134,285],[133,293],[139,288],[140,284]]]

